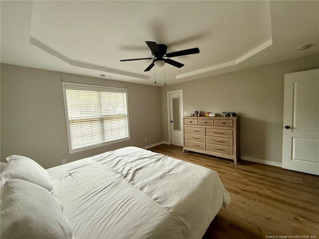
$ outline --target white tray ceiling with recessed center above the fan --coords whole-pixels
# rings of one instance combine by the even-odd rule
[[[3,1],[1,62],[157,86],[319,53],[319,1]],[[153,68],[145,41],[185,66]],[[305,51],[298,47],[312,44]]]

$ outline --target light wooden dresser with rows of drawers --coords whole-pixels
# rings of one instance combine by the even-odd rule
[[[184,117],[185,150],[228,158],[237,163],[239,117]]]

